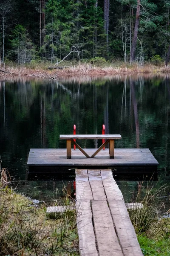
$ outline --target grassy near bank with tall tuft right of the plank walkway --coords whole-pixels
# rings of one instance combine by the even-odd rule
[[[129,210],[142,253],[144,256],[169,256],[170,218],[162,218],[164,204],[159,201],[164,186],[159,190],[155,190],[153,186],[142,189],[145,190],[144,198],[139,200],[141,191],[136,202],[142,203],[143,207]]]

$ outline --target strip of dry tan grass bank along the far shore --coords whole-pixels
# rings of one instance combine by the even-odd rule
[[[34,62],[26,64],[24,67],[15,63],[7,63],[1,66],[1,70],[8,73],[0,72],[0,77],[4,76],[34,76],[57,79],[63,76],[106,76],[115,74],[136,74],[136,73],[169,73],[170,68],[165,67],[164,64],[155,65],[152,63],[145,63],[139,65],[138,63],[129,64],[121,61],[116,62],[69,62],[63,61],[59,64],[63,69],[50,69],[49,66],[54,64],[48,62]],[[56,67],[56,66],[55,66]]]

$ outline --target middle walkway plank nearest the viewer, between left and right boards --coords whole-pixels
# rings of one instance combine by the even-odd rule
[[[123,256],[107,201],[93,200],[91,204],[99,255]]]

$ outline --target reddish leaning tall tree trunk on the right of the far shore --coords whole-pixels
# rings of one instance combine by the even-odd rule
[[[139,17],[140,17],[140,6],[141,6],[141,0],[137,0],[136,21],[135,21],[133,40],[132,40],[132,49],[131,49],[131,53],[130,53],[130,63],[132,61],[134,61],[134,59],[135,59],[135,50],[136,50],[136,42],[137,42],[138,27],[139,27]]]

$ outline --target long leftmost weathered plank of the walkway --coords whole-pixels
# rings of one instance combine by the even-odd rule
[[[98,256],[90,205],[93,196],[86,169],[76,170],[76,198],[79,253],[81,256]]]

